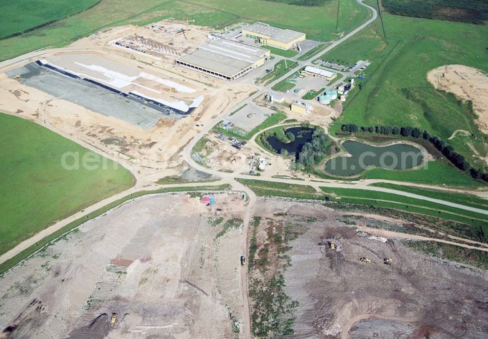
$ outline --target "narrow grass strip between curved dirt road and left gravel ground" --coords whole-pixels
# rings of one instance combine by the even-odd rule
[[[133,194],[129,194],[124,196],[123,198],[116,200],[108,205],[103,206],[102,208],[88,213],[86,216],[77,219],[68,225],[62,227],[58,231],[51,233],[50,235],[44,237],[41,241],[37,242],[35,245],[28,247],[27,249],[23,250],[19,254],[13,256],[12,258],[6,260],[4,263],[0,264],[0,275],[5,273],[8,269],[18,264],[21,260],[25,259],[29,255],[37,252],[42,247],[53,244],[57,241],[63,234],[72,231],[74,228],[80,226],[81,224],[85,223],[86,221],[96,218],[97,216],[102,215],[105,212],[110,211],[117,206],[122,205],[122,203],[140,197],[146,194],[158,194],[158,193],[169,193],[169,192],[186,192],[186,191],[224,191],[229,189],[230,186],[228,184],[218,185],[218,186],[195,186],[195,187],[172,187],[172,188],[162,188],[154,191],[139,191]]]

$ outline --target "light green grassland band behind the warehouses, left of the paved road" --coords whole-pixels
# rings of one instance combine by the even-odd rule
[[[64,46],[107,27],[129,23],[141,26],[167,18],[194,19],[197,25],[217,30],[243,21],[265,21],[280,28],[302,31],[308,39],[328,41],[354,29],[370,16],[369,11],[355,0],[341,0],[340,6],[338,1],[326,1],[320,6],[298,6],[263,0],[246,0],[244,3],[240,0],[101,0],[96,6],[54,24],[0,41],[0,61],[47,46]],[[81,8],[79,4],[75,7],[77,10]],[[20,13],[24,14],[27,10],[30,9]],[[70,13],[73,12],[76,10],[70,10]],[[8,22],[10,27],[13,14],[8,15],[3,22]],[[56,15],[59,18],[59,14]],[[20,25],[15,26],[16,31],[21,29]],[[4,30],[0,32],[3,34]]]

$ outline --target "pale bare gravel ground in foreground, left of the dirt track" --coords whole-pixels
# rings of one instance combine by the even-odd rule
[[[243,206],[239,195],[216,199],[138,198],[23,261],[0,280],[0,338],[232,337],[242,227],[216,239],[212,221],[242,218]]]

